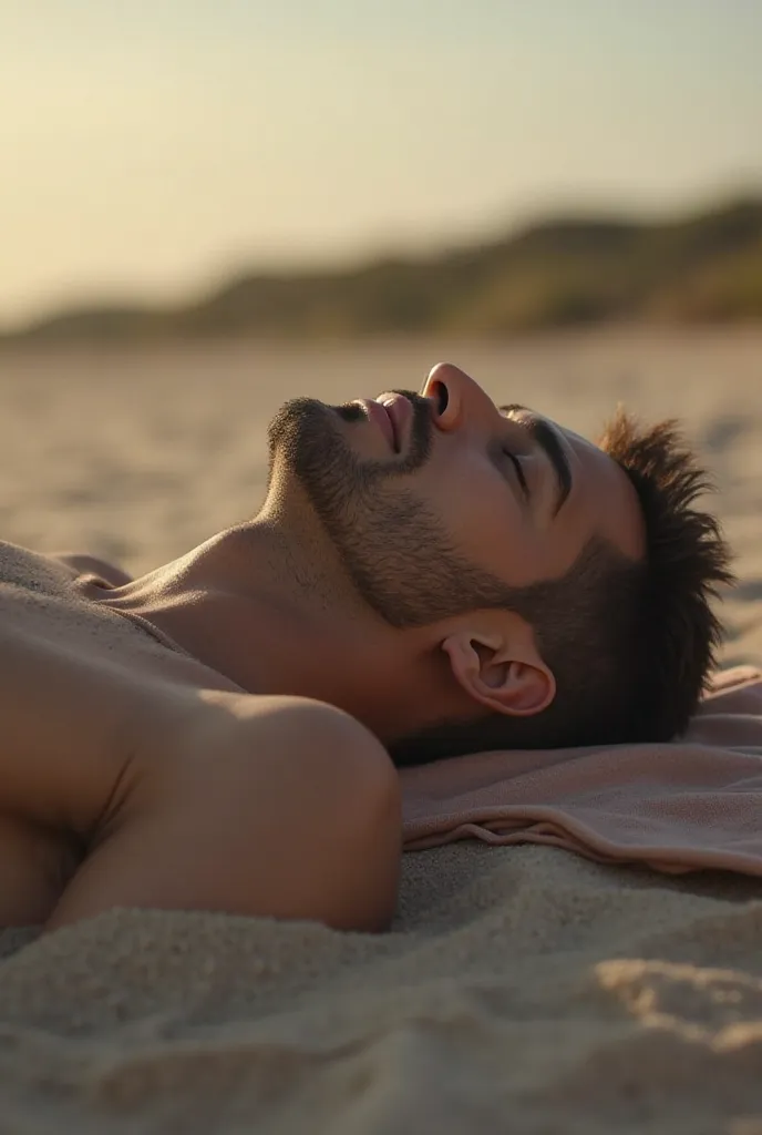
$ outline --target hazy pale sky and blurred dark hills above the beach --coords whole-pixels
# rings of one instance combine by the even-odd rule
[[[7,331],[762,318],[756,0],[3,0],[0,33]]]

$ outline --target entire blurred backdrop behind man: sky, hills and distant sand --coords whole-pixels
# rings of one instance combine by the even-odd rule
[[[256,511],[285,398],[451,359],[684,418],[747,642],[761,58],[756,0],[2,0],[0,536],[149,570]]]

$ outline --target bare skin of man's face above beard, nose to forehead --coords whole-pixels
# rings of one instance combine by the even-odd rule
[[[416,491],[447,519],[454,541],[471,558],[507,583],[522,586],[562,575],[595,533],[625,555],[642,555],[635,491],[607,454],[550,423],[572,473],[572,489],[556,514],[552,462],[526,429],[539,415],[523,407],[501,411],[449,363],[431,371],[424,395],[434,397],[438,382],[447,386],[448,403],[435,417],[437,440]],[[528,499],[508,453],[520,461]]]

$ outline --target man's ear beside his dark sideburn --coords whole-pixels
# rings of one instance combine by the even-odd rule
[[[556,697],[556,679],[534,644],[531,628],[505,636],[459,630],[441,644],[463,689],[493,713],[530,717]]]

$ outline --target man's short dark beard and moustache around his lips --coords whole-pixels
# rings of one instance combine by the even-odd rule
[[[433,421],[427,400],[413,405],[407,453],[361,460],[340,423],[365,421],[363,407],[295,398],[268,429],[270,480],[276,457],[305,491],[361,598],[391,627],[423,627],[505,605],[506,585],[462,556],[435,513],[414,493],[429,461]]]

